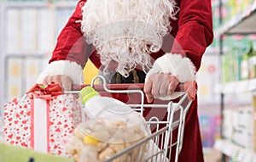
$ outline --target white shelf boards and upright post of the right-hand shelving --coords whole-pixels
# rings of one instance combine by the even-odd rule
[[[220,26],[218,30],[214,31],[214,35],[219,39],[219,53],[224,54],[224,43],[223,38],[225,35],[235,34],[256,34],[256,0],[247,6],[242,12],[236,14],[232,19],[225,23],[222,23],[222,0],[219,0],[219,17]],[[217,92],[221,94],[220,107],[221,107],[221,118],[224,115],[224,95],[226,94],[241,94],[242,92],[252,92],[255,95],[256,92],[256,79],[246,81],[231,81],[225,83],[219,83],[215,88]],[[223,125],[221,125],[220,133],[223,135]],[[223,137],[223,136],[222,136]],[[220,139],[216,141],[214,148],[218,149],[221,153],[234,159],[234,161],[256,161],[256,154],[253,150],[247,148],[241,148],[234,142],[229,140]],[[224,156],[222,161],[224,161]]]

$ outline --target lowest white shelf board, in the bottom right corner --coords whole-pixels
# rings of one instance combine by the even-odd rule
[[[216,140],[214,148],[234,159],[234,161],[256,161],[256,154],[253,153],[253,150],[241,148],[226,139]]]

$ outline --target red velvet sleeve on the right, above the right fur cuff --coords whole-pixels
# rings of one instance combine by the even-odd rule
[[[185,53],[199,70],[201,57],[213,39],[211,0],[180,0],[179,9],[172,53]]]

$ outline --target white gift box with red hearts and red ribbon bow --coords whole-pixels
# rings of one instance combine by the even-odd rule
[[[61,94],[55,85],[32,88],[29,98],[4,105],[4,142],[42,153],[67,156],[68,136],[85,118],[73,94]],[[59,87],[58,87],[59,88]]]

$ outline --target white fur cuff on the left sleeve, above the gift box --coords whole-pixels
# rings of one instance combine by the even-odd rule
[[[67,75],[73,80],[73,84],[83,84],[82,67],[73,61],[59,60],[51,62],[38,76],[37,82],[43,83],[44,77],[51,75]]]

